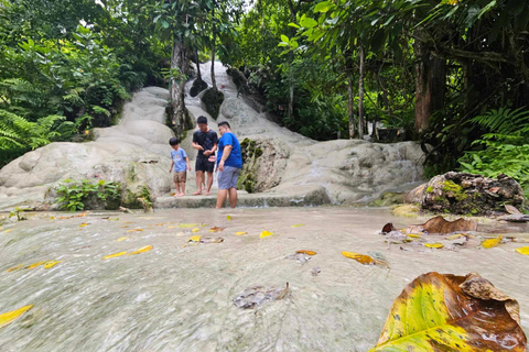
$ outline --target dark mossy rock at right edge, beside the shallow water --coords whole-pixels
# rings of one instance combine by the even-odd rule
[[[505,212],[504,205],[519,208],[523,204],[520,185],[507,175],[497,179],[450,172],[433,177],[421,193],[421,208],[460,215]]]

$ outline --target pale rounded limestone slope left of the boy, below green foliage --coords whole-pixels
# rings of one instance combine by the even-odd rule
[[[174,134],[164,124],[168,97],[165,89],[145,88],[123,107],[118,125],[96,129],[95,141],[51,143],[6,165],[0,170],[0,209],[53,204],[54,187],[66,178],[120,182],[127,205],[137,201],[143,187],[152,198],[169,193],[168,142]]]

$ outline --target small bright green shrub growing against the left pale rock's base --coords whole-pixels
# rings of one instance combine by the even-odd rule
[[[61,209],[71,211],[84,210],[86,202],[90,197],[96,197],[102,201],[119,200],[121,184],[115,182],[101,180],[73,180],[71,178],[63,180],[57,187],[56,204],[61,204]]]

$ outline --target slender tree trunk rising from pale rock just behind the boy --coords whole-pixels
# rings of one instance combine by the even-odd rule
[[[184,44],[179,38],[173,42],[171,56],[171,69],[179,68],[182,74],[187,72],[187,57]],[[185,129],[185,103],[184,103],[185,79],[171,78],[171,122],[177,133]]]

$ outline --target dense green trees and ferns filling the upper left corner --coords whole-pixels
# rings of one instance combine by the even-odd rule
[[[129,12],[140,4],[106,3],[0,1],[0,165],[111,124],[132,90],[161,81],[168,53]]]

